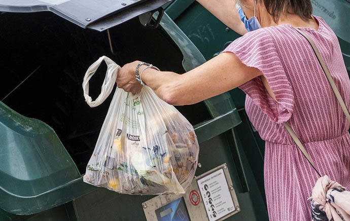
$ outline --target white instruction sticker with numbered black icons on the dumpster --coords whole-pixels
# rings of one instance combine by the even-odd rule
[[[216,221],[236,210],[224,170],[221,168],[197,180],[209,221]]]

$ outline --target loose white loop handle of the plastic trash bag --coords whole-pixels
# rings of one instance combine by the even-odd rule
[[[104,78],[104,81],[101,87],[101,93],[98,95],[96,100],[92,101],[92,98],[89,96],[89,81],[91,77],[95,74],[102,60],[104,60],[104,62],[106,62],[107,64],[106,77]],[[83,90],[84,90],[85,101],[90,107],[95,107],[100,105],[111,94],[117,79],[119,68],[120,66],[116,64],[111,58],[102,56],[98,58],[98,60],[95,61],[93,64],[91,64],[90,67],[87,69],[84,76],[84,81],[83,81]]]

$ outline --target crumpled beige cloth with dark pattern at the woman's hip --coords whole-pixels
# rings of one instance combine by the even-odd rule
[[[313,220],[350,221],[350,192],[327,175],[317,180],[311,199]]]

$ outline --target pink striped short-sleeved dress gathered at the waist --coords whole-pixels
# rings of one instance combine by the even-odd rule
[[[336,35],[314,16],[319,29],[300,28],[316,43],[339,91],[350,107],[350,81]],[[311,220],[311,190],[318,176],[282,122],[288,121],[321,174],[350,189],[350,135],[337,99],[311,46],[291,25],[249,32],[222,53],[234,53],[244,64],[260,69],[261,78],[239,88],[246,111],[265,144],[265,191],[271,221]]]

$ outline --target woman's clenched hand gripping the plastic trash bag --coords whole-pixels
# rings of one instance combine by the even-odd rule
[[[118,88],[122,88],[124,91],[131,92],[132,94],[136,94],[141,91],[142,85],[135,79],[135,69],[139,62],[140,61],[133,61],[131,63],[127,63],[119,69],[116,79]]]

